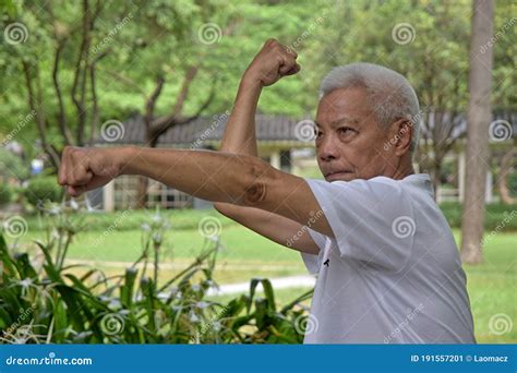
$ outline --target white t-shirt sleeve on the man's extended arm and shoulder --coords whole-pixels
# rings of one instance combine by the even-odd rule
[[[410,197],[396,181],[305,181],[325,213],[344,260],[388,270],[402,268],[417,226]]]

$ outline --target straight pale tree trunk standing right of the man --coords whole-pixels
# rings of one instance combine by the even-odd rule
[[[482,262],[484,193],[489,161],[490,89],[493,31],[493,0],[474,0],[470,37],[469,111],[467,129],[467,172],[461,221],[461,261]],[[484,50],[484,53],[481,52]]]

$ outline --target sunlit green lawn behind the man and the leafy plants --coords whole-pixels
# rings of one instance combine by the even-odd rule
[[[447,207],[450,210],[453,208]],[[132,213],[133,214],[133,213]],[[200,252],[204,238],[197,230],[197,222],[203,216],[216,216],[221,222],[221,242],[226,246],[220,252],[216,280],[219,284],[248,281],[252,277],[284,277],[306,274],[300,254],[293,250],[276,244],[253,231],[239,226],[214,210],[166,212],[171,219],[172,229],[163,244],[161,263],[176,263],[178,267],[163,270],[166,280],[187,265]],[[142,251],[139,229],[143,221],[148,221],[151,213],[134,212],[120,224],[120,229],[103,236],[112,224],[116,214],[88,216],[87,230],[74,239],[70,249],[70,258],[94,261],[96,266],[108,274],[120,274],[121,266],[109,262],[132,262]],[[96,220],[98,219],[98,220]],[[35,250],[31,243],[41,238],[37,229],[39,222],[29,220],[29,230],[21,240],[21,249]],[[459,244],[459,230],[454,229]],[[486,231],[486,236],[490,230]],[[486,237],[485,236],[485,237]],[[517,325],[503,335],[491,334],[489,323],[496,314],[506,314],[517,324],[516,299],[516,232],[501,232],[486,241],[484,263],[477,266],[465,266],[468,276],[468,290],[474,316],[478,342],[516,342]],[[287,303],[305,289],[285,289],[277,291],[277,301]],[[306,302],[309,305],[309,302]]]

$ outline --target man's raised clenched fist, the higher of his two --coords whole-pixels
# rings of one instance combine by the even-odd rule
[[[247,80],[258,82],[263,86],[272,85],[282,76],[300,71],[298,55],[275,39],[268,39],[248,67]]]

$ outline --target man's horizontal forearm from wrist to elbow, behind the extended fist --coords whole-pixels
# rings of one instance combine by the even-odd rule
[[[256,176],[267,164],[247,155],[212,151],[120,148],[120,175],[158,180],[193,196],[242,205],[253,196]]]

